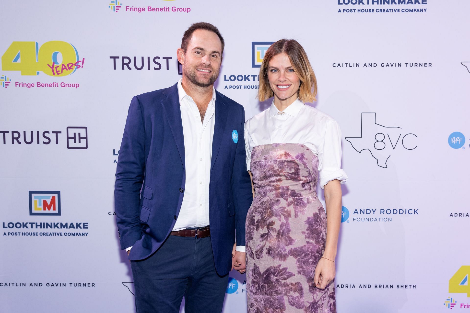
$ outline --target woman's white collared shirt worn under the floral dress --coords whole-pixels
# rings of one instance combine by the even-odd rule
[[[320,187],[338,179],[348,179],[341,169],[341,130],[331,116],[295,100],[283,112],[274,106],[245,122],[246,166],[250,170],[251,151],[257,145],[304,144],[318,156]]]

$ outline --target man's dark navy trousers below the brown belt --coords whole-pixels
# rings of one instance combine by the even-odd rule
[[[148,259],[132,261],[137,313],[222,311],[228,274],[215,270],[211,237],[169,236]]]

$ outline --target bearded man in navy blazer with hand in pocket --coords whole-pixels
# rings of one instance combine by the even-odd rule
[[[129,107],[115,210],[138,313],[179,312],[183,295],[186,313],[221,312],[228,272],[245,269],[245,117],[213,87],[223,49],[215,26],[191,25],[177,50],[182,79]]]

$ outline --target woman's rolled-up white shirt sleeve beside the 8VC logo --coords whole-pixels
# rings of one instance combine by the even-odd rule
[[[339,180],[342,184],[348,176],[341,169],[341,130],[334,120],[327,122],[323,144],[318,151],[318,171],[320,172],[320,187],[332,180]]]

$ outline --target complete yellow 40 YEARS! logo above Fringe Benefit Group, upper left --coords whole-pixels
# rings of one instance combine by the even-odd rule
[[[67,76],[83,67],[85,58],[78,58],[77,49],[65,41],[13,41],[1,57],[4,71],[20,71],[36,76],[40,71],[49,76]]]

